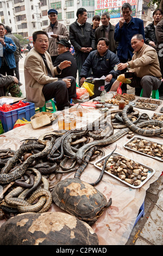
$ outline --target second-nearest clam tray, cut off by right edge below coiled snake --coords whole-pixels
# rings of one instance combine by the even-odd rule
[[[124,144],[123,147],[135,151],[136,153],[152,157],[156,160],[163,161],[163,144],[161,143],[133,137]]]

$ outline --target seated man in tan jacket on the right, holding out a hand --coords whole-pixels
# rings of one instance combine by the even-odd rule
[[[131,46],[134,49],[133,58],[127,63],[117,65],[118,70],[129,68],[129,72],[134,72],[131,77],[131,87],[143,89],[143,97],[150,97],[152,90],[157,90],[161,85],[161,71],[158,54],[155,49],[144,43],[143,36],[136,34],[131,38]],[[110,92],[115,92],[120,82],[112,84]]]

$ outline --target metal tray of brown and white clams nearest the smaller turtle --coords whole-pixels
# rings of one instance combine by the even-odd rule
[[[102,170],[108,155],[97,160],[94,166]],[[105,173],[132,188],[140,188],[154,175],[155,170],[129,157],[113,153],[106,162]]]

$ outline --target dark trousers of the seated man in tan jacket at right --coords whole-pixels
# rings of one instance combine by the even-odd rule
[[[143,76],[140,77],[133,77],[131,79],[130,86],[139,88],[140,92],[143,89],[142,97],[150,97],[152,90],[158,90],[161,85],[161,80],[155,76]],[[140,96],[140,94],[139,94]]]

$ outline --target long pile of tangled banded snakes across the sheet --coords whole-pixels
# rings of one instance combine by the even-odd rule
[[[110,118],[112,112],[116,112],[114,119]],[[24,140],[17,151],[0,150],[0,219],[22,212],[48,211],[52,205],[51,192],[63,175],[74,172],[74,178],[80,179],[87,164],[93,164],[99,155],[104,156],[102,148],[124,135],[137,133],[149,137],[163,133],[161,121],[137,114],[133,106],[112,112],[99,118],[98,130],[95,127],[99,119],[93,122],[92,131],[86,126],[80,130],[46,132],[39,138]],[[148,125],[159,129],[143,129]],[[91,185],[96,186],[102,178],[101,174]]]

